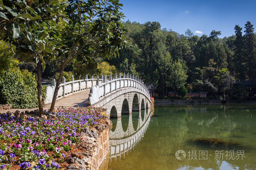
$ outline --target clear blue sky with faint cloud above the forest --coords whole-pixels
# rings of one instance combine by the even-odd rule
[[[184,34],[210,35],[221,31],[221,38],[234,34],[234,27],[250,21],[256,30],[256,0],[120,0],[125,21],[143,24],[158,21],[161,28]]]

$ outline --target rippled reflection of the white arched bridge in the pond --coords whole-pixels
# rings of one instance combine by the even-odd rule
[[[125,154],[131,152],[142,140],[147,131],[151,114],[149,107],[146,110],[133,111],[132,114],[120,118],[110,118],[113,127],[109,130],[109,163],[121,159],[121,157],[124,158]],[[128,127],[122,126],[125,123],[121,120],[122,118],[128,119]]]

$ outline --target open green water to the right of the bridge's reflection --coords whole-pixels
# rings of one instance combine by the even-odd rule
[[[252,134],[252,129],[256,128],[255,120],[255,110],[240,109],[238,106],[155,108],[155,114],[151,118],[143,142],[139,143],[125,159],[129,165],[131,164],[130,166],[139,167],[139,169],[180,169],[181,167],[223,169],[227,166],[233,169],[256,169],[255,148],[253,147],[245,148],[246,158],[244,160],[241,158],[239,160],[215,160],[214,151],[217,148],[189,143],[190,139],[207,137],[238,142],[244,146],[252,145],[256,140],[256,133]],[[187,154],[188,150],[197,150],[197,154],[199,150],[207,150],[208,160],[185,158],[179,161],[175,158],[175,152],[179,149],[185,150]],[[226,150],[226,148],[218,150]],[[136,166],[136,163],[139,165]],[[127,167],[121,162],[117,164],[123,169]]]

